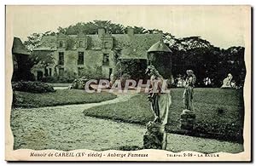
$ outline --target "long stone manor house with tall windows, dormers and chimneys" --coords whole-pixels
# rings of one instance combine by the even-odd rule
[[[80,75],[84,69],[101,70],[102,77],[109,78],[113,72],[113,56],[119,51],[119,60],[147,60],[147,50],[160,41],[161,34],[134,34],[129,28],[126,34],[110,34],[98,29],[95,35],[44,36],[34,54],[54,57],[55,64],[32,68],[37,80],[42,77],[63,76],[65,72]],[[90,67],[88,67],[90,66]]]

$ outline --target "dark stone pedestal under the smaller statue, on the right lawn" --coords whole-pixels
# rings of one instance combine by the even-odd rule
[[[183,110],[180,115],[180,128],[186,130],[193,130],[195,125],[195,112],[190,110]]]

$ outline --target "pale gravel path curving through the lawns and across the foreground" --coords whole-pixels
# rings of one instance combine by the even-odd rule
[[[100,103],[13,109],[11,128],[15,149],[108,150],[121,146],[143,146],[145,127],[85,117],[84,109],[129,100],[136,94],[119,95]],[[184,135],[168,135],[167,150],[172,152],[242,152],[241,144]]]

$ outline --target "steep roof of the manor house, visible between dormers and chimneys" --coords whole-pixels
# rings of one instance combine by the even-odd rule
[[[68,36],[76,40],[77,36]],[[87,49],[102,49],[102,40],[98,35],[86,35],[89,47]],[[148,49],[160,40],[160,34],[112,34],[113,49],[121,49],[120,59],[147,59]],[[56,36],[42,38],[38,48],[34,50],[56,50]],[[75,42],[74,42],[75,43]]]

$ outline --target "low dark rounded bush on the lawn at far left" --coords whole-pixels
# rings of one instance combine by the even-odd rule
[[[23,91],[23,92],[32,92],[32,93],[46,93],[46,92],[55,92],[55,89],[46,84],[40,82],[15,82],[12,83],[13,90],[15,91]]]

